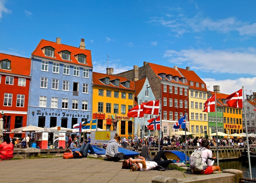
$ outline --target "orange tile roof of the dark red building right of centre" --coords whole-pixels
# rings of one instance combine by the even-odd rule
[[[153,63],[149,63],[149,62],[148,62],[148,64],[152,68],[152,70],[155,72],[155,74],[159,77],[159,79],[161,79],[161,80],[162,80],[162,78],[158,75],[160,73],[166,73],[166,75],[172,75],[173,77],[174,76],[178,76],[179,78],[182,77],[181,74],[179,73],[179,71],[175,70],[174,68],[166,67],[166,66],[158,65],[158,64],[153,64]],[[182,83],[181,81],[175,82],[172,80],[170,82],[188,85],[187,83]]]

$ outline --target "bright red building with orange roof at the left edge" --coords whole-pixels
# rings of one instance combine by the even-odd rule
[[[25,137],[25,133],[10,133],[27,125],[30,82],[29,58],[0,53],[0,112],[4,113],[3,134]]]

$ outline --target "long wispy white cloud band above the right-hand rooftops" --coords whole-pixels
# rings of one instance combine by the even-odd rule
[[[187,63],[192,69],[205,72],[237,73],[256,75],[256,49],[227,49],[227,50],[166,50],[165,58],[172,63]],[[248,67],[249,65],[249,67]]]

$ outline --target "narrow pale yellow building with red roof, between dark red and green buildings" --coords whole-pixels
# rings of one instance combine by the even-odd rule
[[[189,131],[197,137],[206,137],[208,132],[208,113],[203,112],[207,100],[207,88],[203,80],[189,67],[178,68],[189,84]]]

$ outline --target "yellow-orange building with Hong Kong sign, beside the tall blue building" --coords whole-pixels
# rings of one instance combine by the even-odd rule
[[[133,138],[133,118],[127,117],[134,104],[134,82],[107,73],[93,72],[92,118],[98,119],[98,128],[118,130],[121,138]]]

